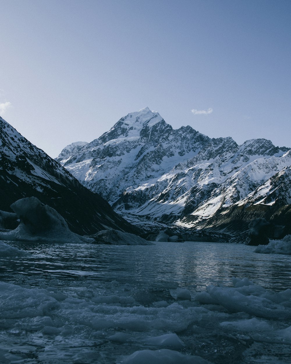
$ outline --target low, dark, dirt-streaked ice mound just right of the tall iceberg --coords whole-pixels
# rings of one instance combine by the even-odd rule
[[[112,245],[154,245],[151,241],[145,240],[140,236],[130,233],[124,233],[119,230],[101,230],[96,234],[90,235],[95,239],[97,244],[112,244]]]

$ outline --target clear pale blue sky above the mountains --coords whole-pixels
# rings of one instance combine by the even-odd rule
[[[291,147],[289,0],[0,8],[0,115],[52,157],[146,106],[174,128]]]

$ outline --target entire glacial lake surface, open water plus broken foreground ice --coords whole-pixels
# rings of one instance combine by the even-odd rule
[[[161,349],[185,363],[290,363],[290,256],[209,242],[7,244],[31,256],[0,258],[1,363],[134,364],[134,352]]]

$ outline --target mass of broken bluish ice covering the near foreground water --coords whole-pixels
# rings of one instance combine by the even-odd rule
[[[1,363],[20,362],[36,348],[38,361],[29,363],[262,363],[259,353],[271,342],[281,345],[282,356],[290,350],[290,289],[272,292],[233,278],[233,287],[192,289],[184,301],[164,288],[137,290],[117,281],[76,282],[67,292],[60,280],[36,281],[43,288],[0,283]],[[9,340],[25,341],[27,353],[25,345],[10,351]],[[271,356],[264,363],[288,361]]]

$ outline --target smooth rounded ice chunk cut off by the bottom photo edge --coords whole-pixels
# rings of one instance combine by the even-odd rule
[[[170,349],[140,350],[117,361],[117,364],[209,364],[200,356],[183,355]]]

